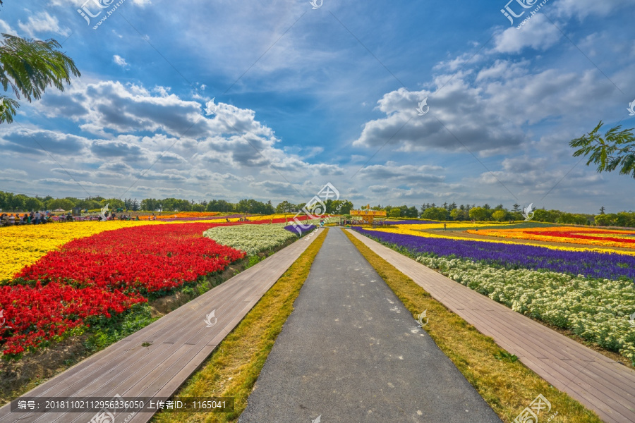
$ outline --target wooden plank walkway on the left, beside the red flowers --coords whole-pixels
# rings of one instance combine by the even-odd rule
[[[210,356],[269,288],[313,243],[298,240],[207,291],[131,336],[75,364],[24,397],[170,397]],[[215,310],[216,324],[207,327]],[[213,321],[213,320],[212,320]],[[143,343],[151,345],[144,347]],[[116,421],[124,417],[113,413]],[[154,413],[137,413],[126,423],[148,422]],[[0,408],[0,423],[90,422],[90,413],[12,413]]]

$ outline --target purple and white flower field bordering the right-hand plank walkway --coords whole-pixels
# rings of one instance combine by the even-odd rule
[[[635,313],[632,255],[353,229],[635,364],[635,331],[629,324]]]

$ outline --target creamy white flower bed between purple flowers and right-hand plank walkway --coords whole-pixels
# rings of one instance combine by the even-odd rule
[[[635,364],[635,286],[555,272],[496,269],[468,260],[418,257],[418,262],[489,298],[588,341]]]

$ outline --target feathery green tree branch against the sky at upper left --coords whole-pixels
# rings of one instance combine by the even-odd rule
[[[71,75],[81,76],[75,62],[63,54],[61,44],[54,39],[46,41],[24,39],[2,34],[0,42],[0,83],[4,91],[11,88],[19,100],[20,96],[31,102],[40,99],[47,87],[63,91]],[[0,123],[13,122],[20,103],[6,95],[0,96]]]

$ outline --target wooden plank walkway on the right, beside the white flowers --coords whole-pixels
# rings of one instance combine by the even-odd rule
[[[355,231],[349,232],[435,300],[518,356],[545,381],[598,413],[604,422],[635,422],[633,370],[399,252]]]

